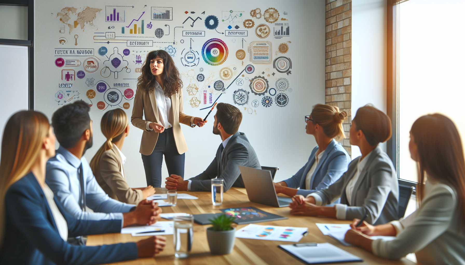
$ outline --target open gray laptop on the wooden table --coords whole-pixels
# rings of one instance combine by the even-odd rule
[[[286,207],[292,202],[291,198],[276,195],[269,170],[243,166],[239,166],[239,170],[250,201],[273,207]]]

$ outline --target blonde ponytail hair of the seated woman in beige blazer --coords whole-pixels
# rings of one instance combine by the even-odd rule
[[[100,157],[104,152],[113,148],[113,142],[120,141],[128,123],[127,115],[121,109],[109,110],[103,115],[102,120],[100,121],[100,129],[102,130],[103,136],[106,137],[106,141],[89,163],[94,175],[95,169],[100,163]]]

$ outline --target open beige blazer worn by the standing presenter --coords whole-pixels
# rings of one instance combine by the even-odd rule
[[[182,89],[171,96],[171,106],[173,110],[173,135],[174,142],[179,154],[184,154],[187,151],[186,139],[182,134],[181,125],[191,125],[193,116],[184,114]],[[145,120],[142,117],[145,117]],[[140,153],[142,155],[150,155],[157,144],[158,133],[154,130],[147,130],[147,123],[159,123],[159,114],[155,92],[150,90],[147,94],[145,89],[137,86],[136,95],[134,96],[133,115],[131,123],[139,129],[142,129],[142,140],[140,141]]]

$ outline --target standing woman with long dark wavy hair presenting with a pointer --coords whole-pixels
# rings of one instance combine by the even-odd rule
[[[163,50],[149,52],[142,65],[131,123],[144,130],[140,153],[147,186],[161,187],[163,155],[168,175],[184,178],[187,144],[179,123],[202,127],[206,121],[184,114],[181,77],[173,58]]]

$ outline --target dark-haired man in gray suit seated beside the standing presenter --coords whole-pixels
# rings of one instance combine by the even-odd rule
[[[167,189],[211,191],[211,179],[224,180],[224,191],[230,187],[244,187],[239,165],[261,169],[257,154],[244,133],[239,132],[242,113],[233,105],[218,103],[216,105],[213,134],[221,136],[223,141],[216,151],[212,163],[204,172],[184,181],[178,175],[166,178]]]

